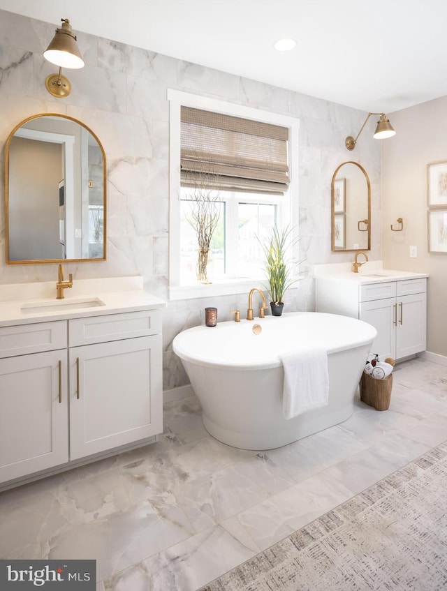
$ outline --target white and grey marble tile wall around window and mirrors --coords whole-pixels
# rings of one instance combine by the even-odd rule
[[[168,301],[168,88],[300,119],[300,248],[308,270],[299,289],[289,293],[290,309],[314,309],[312,265],[351,260],[350,253],[330,250],[330,182],[346,160],[360,163],[369,174],[369,259],[381,258],[380,145],[364,133],[354,153],[344,147],[346,135],[362,126],[364,112],[78,31],[86,66],[66,72],[73,87],[70,96],[53,98],[45,78],[55,68],[43,59],[43,50],[58,22],[59,15],[54,23],[45,23],[0,10],[0,147],[4,154],[10,130],[22,119],[47,112],[80,119],[101,140],[108,165],[108,256],[105,262],[69,264],[67,271],[75,280],[137,274],[144,277],[146,290]],[[3,211],[3,166],[0,174]],[[6,264],[0,215],[0,284],[55,277],[55,264]],[[203,322],[205,306],[217,306],[219,318],[226,320],[230,310],[246,307],[246,300],[243,294],[168,301],[163,315],[164,389],[187,383],[172,352],[174,336]]]

